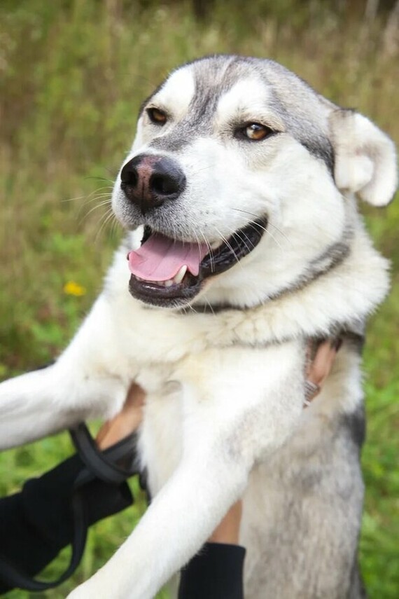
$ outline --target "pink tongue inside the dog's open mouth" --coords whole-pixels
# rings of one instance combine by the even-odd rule
[[[146,281],[167,281],[186,264],[192,275],[200,272],[200,262],[208,253],[205,244],[174,241],[154,233],[134,252],[130,252],[130,272]]]

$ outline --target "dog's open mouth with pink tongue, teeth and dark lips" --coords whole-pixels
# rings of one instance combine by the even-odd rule
[[[165,308],[184,305],[208,277],[223,273],[252,252],[266,226],[266,218],[253,221],[212,250],[204,243],[173,240],[146,226],[141,247],[127,254],[130,293]]]

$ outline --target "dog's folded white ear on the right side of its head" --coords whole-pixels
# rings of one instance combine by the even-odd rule
[[[368,118],[352,110],[330,113],[335,184],[373,206],[386,206],[398,185],[395,146]]]

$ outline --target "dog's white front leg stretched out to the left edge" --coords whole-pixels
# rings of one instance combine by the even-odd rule
[[[0,448],[118,411],[127,391],[121,363],[111,305],[100,296],[55,364],[0,384]]]

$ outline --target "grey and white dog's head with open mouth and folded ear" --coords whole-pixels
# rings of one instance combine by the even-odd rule
[[[254,305],[349,252],[353,194],[386,205],[391,140],[269,60],[183,65],[144,102],[113,192],[137,229],[130,292],[151,305]]]

